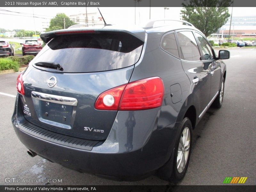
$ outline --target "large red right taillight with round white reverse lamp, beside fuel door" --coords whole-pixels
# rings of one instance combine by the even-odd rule
[[[160,107],[164,85],[160,77],[141,79],[100,94],[95,108],[100,110],[143,110]]]

